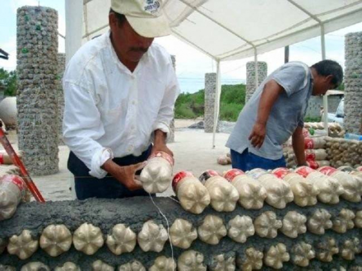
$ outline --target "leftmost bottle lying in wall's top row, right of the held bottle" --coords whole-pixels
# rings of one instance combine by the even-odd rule
[[[209,192],[190,172],[178,172],[172,181],[172,187],[186,211],[200,214],[210,204]]]

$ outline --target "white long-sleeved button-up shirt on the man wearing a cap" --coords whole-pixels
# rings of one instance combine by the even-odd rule
[[[90,175],[103,178],[110,157],[140,155],[153,132],[170,134],[180,92],[170,55],[152,44],[131,72],[117,58],[109,32],[85,44],[64,76],[63,137]],[[108,157],[109,157],[108,155]]]

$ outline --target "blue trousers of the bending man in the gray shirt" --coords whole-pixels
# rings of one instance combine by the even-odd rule
[[[271,160],[255,155],[249,152],[248,149],[245,149],[243,153],[239,153],[233,149],[230,149],[230,152],[232,167],[241,169],[242,171],[248,171],[254,168],[263,168],[268,170],[278,167],[286,167],[284,157],[277,160]]]

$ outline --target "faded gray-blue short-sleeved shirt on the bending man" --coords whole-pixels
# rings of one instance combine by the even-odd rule
[[[273,107],[267,122],[267,134],[260,149],[249,141],[258,117],[260,97],[264,85],[271,79],[284,88]],[[312,94],[313,77],[310,68],[302,62],[289,62],[272,72],[258,87],[243,110],[226,146],[242,153],[246,148],[258,156],[276,160],[283,156],[282,144],[297,126],[303,127],[303,118]]]

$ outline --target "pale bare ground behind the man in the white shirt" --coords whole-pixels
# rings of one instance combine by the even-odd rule
[[[215,148],[212,148],[212,134],[204,133],[203,130],[187,129],[188,126],[200,120],[176,120],[175,142],[169,147],[175,155],[174,173],[187,170],[199,176],[204,170],[214,169],[220,173],[231,168],[217,164],[217,157],[225,154],[225,147],[229,135],[216,134]],[[17,150],[17,136],[11,131],[8,135],[10,143]],[[2,146],[0,146],[2,149]],[[71,200],[72,193],[69,190],[73,175],[67,169],[69,148],[59,146],[59,172],[48,176],[31,176],[47,201]],[[162,193],[162,196],[173,195],[171,186]]]

